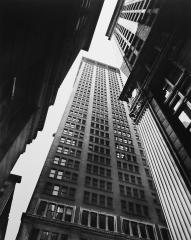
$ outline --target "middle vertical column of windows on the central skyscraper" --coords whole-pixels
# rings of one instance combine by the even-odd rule
[[[84,203],[112,209],[106,74],[105,66],[99,63],[96,66],[93,94]]]

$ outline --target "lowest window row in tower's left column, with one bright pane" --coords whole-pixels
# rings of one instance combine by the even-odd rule
[[[47,182],[44,187],[44,193],[52,196],[74,199],[76,189],[70,186],[55,185]]]

